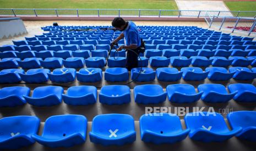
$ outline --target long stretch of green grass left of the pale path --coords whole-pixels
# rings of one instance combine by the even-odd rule
[[[173,0],[0,0],[0,8],[178,9]]]

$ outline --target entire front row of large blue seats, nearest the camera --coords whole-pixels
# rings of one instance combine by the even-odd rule
[[[255,141],[255,111],[231,112],[224,117],[216,112],[193,112],[184,117],[186,129],[176,114],[155,113],[140,117],[141,140],[148,143],[176,143],[189,136],[202,142],[222,142],[236,136]],[[0,119],[3,130],[1,149],[18,149],[35,142],[48,147],[72,147],[86,141],[87,119],[83,115],[55,115],[45,121],[42,135],[37,135],[40,119],[20,115]],[[103,146],[133,143],[136,140],[134,119],[128,114],[101,114],[92,120],[89,132],[92,143]]]

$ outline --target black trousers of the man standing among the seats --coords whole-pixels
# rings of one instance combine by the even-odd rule
[[[139,55],[139,48],[127,50],[127,57],[126,57],[126,68],[130,71],[132,68],[138,67],[138,55]]]

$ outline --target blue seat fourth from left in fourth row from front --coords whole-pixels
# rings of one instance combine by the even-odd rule
[[[82,68],[84,67],[84,58],[68,57],[66,60],[63,60],[63,65],[67,68]]]

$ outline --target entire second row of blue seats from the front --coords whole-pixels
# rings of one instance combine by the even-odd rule
[[[168,100],[173,103],[192,103],[200,98],[204,102],[220,103],[235,100],[238,102],[256,102],[256,88],[252,84],[230,84],[229,94],[224,85],[201,84],[198,93],[190,84],[171,84],[166,92],[160,85],[146,84],[134,87],[134,101],[142,104],[156,104]],[[28,102],[33,106],[55,106],[62,102],[73,106],[96,103],[97,89],[95,86],[72,86],[67,94],[63,94],[61,86],[41,86],[34,89],[22,86],[2,88],[0,91],[0,106],[14,107]],[[126,85],[105,85],[101,88],[99,101],[114,105],[130,102],[130,89]]]

